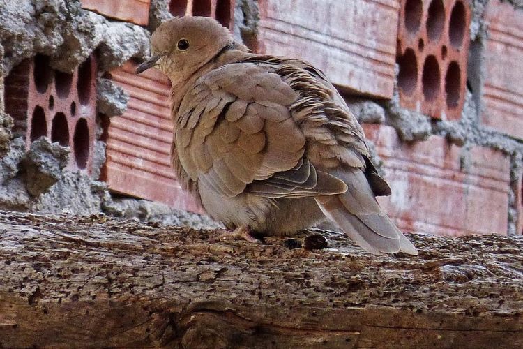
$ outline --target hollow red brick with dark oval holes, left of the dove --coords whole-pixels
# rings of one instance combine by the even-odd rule
[[[91,57],[73,74],[52,70],[37,54],[11,70],[5,80],[6,112],[26,147],[40,136],[70,146],[70,170],[91,172],[96,142],[96,60]]]

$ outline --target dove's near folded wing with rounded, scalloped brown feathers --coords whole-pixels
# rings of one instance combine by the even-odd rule
[[[268,198],[342,193],[317,171],[289,108],[297,92],[270,66],[227,64],[200,77],[177,112],[176,151],[193,181],[220,195]]]

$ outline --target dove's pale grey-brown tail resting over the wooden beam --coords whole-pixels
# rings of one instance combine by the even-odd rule
[[[314,199],[324,214],[359,246],[370,253],[403,251],[418,255],[418,250],[381,210],[365,173],[359,168],[331,172],[347,184],[347,191]]]

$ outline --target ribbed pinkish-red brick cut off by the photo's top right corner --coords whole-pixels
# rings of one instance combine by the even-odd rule
[[[481,123],[523,139],[523,10],[489,1]]]

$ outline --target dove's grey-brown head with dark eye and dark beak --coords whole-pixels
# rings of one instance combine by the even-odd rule
[[[151,58],[136,71],[154,67],[171,80],[185,80],[232,43],[229,30],[212,18],[175,17],[154,31]]]

